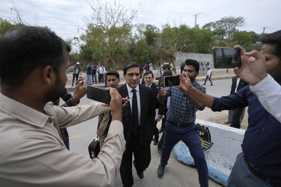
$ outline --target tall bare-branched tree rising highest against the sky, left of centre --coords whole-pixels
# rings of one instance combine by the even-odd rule
[[[126,50],[129,37],[132,34],[132,21],[136,20],[139,8],[131,9],[121,1],[107,1],[101,4],[99,0],[86,0],[92,8],[90,17],[84,17],[87,25],[86,34],[82,37],[90,47],[104,52],[112,61],[115,70],[114,57],[119,50]],[[78,26],[78,29],[83,29]]]

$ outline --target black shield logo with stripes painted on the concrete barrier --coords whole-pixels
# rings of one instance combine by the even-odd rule
[[[210,149],[214,143],[211,142],[211,135],[208,127],[196,124],[198,135],[201,141],[203,151]]]

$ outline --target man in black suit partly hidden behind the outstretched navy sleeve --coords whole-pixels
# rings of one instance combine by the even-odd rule
[[[232,85],[230,94],[237,92],[241,88],[247,86],[249,83],[243,81],[240,77],[233,77],[232,78]],[[228,122],[225,124],[230,124],[230,127],[234,127],[240,129],[240,124],[244,118],[245,108],[237,108],[234,110],[229,110],[228,112]],[[229,121],[231,119],[231,121]]]

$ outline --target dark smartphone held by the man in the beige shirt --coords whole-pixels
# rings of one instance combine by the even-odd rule
[[[111,96],[109,94],[109,91],[94,86],[87,86],[87,98],[108,105],[111,101]]]

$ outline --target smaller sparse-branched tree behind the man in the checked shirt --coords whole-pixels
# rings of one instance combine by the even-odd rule
[[[189,46],[192,46],[196,38],[193,38],[189,33],[190,27],[185,24],[179,24],[177,27],[175,21],[173,27],[169,22],[162,25],[162,31],[159,34],[156,45],[152,46],[153,50],[160,53],[170,54],[172,56],[172,63],[174,64],[174,73],[177,73],[175,58],[181,52],[187,52]]]

